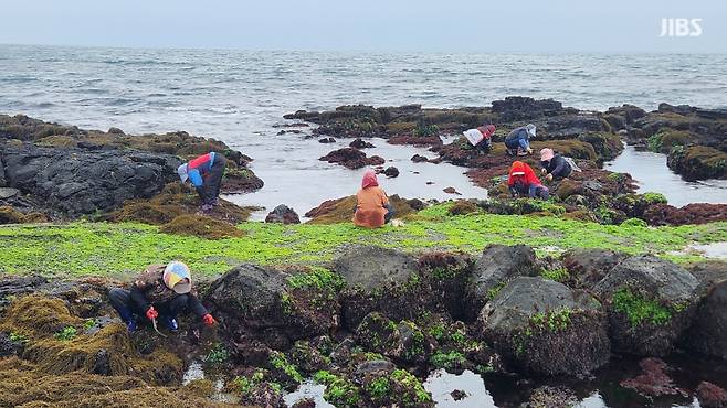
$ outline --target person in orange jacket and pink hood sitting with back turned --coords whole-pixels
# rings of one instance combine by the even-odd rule
[[[356,193],[354,224],[359,227],[378,228],[393,218],[393,206],[387,193],[379,187],[373,170],[367,170],[361,190]]]

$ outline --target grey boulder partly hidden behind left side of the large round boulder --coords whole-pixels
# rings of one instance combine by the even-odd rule
[[[533,248],[525,245],[488,245],[475,261],[472,279],[467,283],[466,310],[470,319],[474,319],[509,280],[539,272]]]

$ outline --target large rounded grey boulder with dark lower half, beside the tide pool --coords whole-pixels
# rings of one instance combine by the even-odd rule
[[[601,304],[540,277],[510,281],[483,308],[480,323],[501,355],[535,374],[587,373],[611,354]]]

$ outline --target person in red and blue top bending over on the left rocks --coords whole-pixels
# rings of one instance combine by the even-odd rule
[[[185,183],[189,179],[194,185],[197,194],[202,201],[201,210],[204,213],[212,211],[212,207],[218,204],[225,164],[224,155],[209,152],[177,168],[181,182]]]

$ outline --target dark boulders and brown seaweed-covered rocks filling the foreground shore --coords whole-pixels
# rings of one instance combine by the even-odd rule
[[[164,339],[150,328],[127,336],[106,299],[118,282],[3,276],[0,371],[11,379],[0,401],[282,407],[285,390],[309,378],[338,407],[432,407],[422,379],[433,369],[575,377],[619,356],[655,361],[643,367],[656,374],[623,386],[658,396],[671,379],[657,357],[727,356],[725,279],[725,264],[687,270],[607,250],[538,258],[526,246],[491,245],[477,257],[354,247],[326,267],[246,264],[202,282],[219,328],[185,320]],[[182,386],[191,364],[218,373],[218,384]],[[682,391],[724,395],[714,384]],[[563,393],[572,391],[537,388],[530,404]]]

